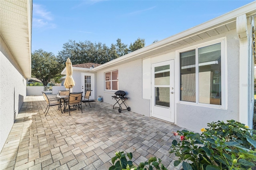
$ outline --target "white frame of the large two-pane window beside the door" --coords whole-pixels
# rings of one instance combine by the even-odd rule
[[[221,89],[222,89],[222,102],[221,105],[213,105],[213,104],[205,104],[205,103],[198,103],[198,76],[196,76],[196,102],[188,102],[188,101],[180,101],[180,53],[185,51],[190,51],[193,49],[198,49],[200,47],[206,47],[208,45],[213,45],[216,43],[221,43]],[[227,46],[226,46],[226,37],[224,38],[218,38],[216,40],[208,41],[205,43],[200,43],[198,45],[193,45],[187,48],[183,48],[176,51],[176,59],[178,59],[178,62],[176,62],[176,77],[178,77],[178,81],[176,81],[176,99],[178,99],[177,103],[185,104],[185,105],[194,105],[194,106],[200,106],[200,107],[208,107],[208,108],[214,108],[214,109],[227,109],[227,94],[228,94],[228,83],[227,83]],[[198,51],[196,50],[196,56]],[[196,57],[196,62],[197,61]],[[198,73],[198,67],[196,67],[196,73]]]

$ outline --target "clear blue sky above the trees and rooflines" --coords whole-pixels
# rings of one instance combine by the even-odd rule
[[[105,43],[118,38],[146,46],[207,22],[253,0],[33,0],[32,52],[54,55],[68,40]]]

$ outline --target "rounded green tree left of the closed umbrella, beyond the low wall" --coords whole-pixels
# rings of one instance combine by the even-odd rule
[[[42,81],[44,86],[50,79],[60,75],[60,71],[65,67],[60,67],[56,57],[52,52],[42,49],[35,50],[31,55],[31,75]]]

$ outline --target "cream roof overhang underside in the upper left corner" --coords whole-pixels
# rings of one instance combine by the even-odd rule
[[[0,36],[22,74],[31,77],[32,0],[0,0]]]

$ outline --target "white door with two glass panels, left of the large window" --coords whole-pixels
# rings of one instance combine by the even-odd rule
[[[152,64],[152,117],[174,123],[174,60]]]

